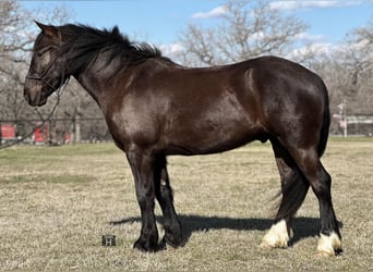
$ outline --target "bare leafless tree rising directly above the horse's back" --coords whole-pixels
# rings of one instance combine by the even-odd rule
[[[183,63],[215,65],[238,62],[263,54],[286,55],[296,46],[294,37],[306,25],[291,15],[282,15],[266,1],[229,1],[221,24],[203,27],[190,24],[182,33]]]

